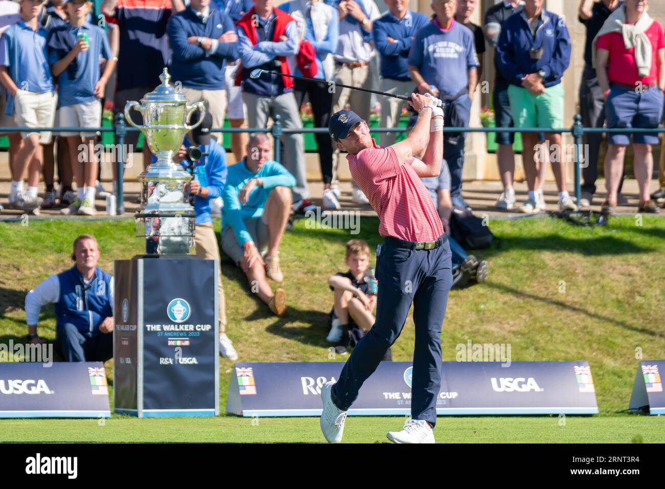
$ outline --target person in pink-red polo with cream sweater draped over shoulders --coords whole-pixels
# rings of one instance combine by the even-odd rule
[[[605,21],[594,40],[595,67],[606,101],[608,128],[657,128],[663,114],[665,35],[647,13],[648,0],[626,0]],[[638,212],[658,212],[649,196],[654,167],[651,145],[658,134],[633,134],[633,171],[640,188]],[[601,209],[614,212],[629,133],[610,134],[605,156],[607,198]]]

